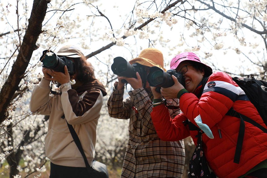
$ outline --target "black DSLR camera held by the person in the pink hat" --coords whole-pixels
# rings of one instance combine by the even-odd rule
[[[149,86],[168,88],[174,85],[174,81],[171,77],[172,75],[174,75],[178,79],[179,83],[185,88],[184,76],[181,72],[176,72],[175,69],[170,69],[165,72],[159,67],[150,67],[149,74],[147,75],[147,81]],[[160,90],[156,89],[156,91],[159,92]]]

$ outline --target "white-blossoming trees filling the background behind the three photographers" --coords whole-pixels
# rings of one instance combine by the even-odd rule
[[[43,50],[57,52],[63,45],[78,45],[108,96],[117,80],[111,71],[113,59],[122,56],[129,61],[148,47],[162,51],[166,69],[176,54],[192,51],[213,71],[266,80],[266,1],[25,0],[0,4],[3,174],[20,177],[37,172],[38,177],[46,171],[44,137],[49,117],[29,111],[31,91],[43,77],[39,60]],[[96,157],[116,165],[124,157],[129,121],[110,118],[106,100],[97,126]]]

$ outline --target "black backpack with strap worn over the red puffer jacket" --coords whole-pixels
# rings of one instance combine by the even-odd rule
[[[251,79],[234,77],[232,79],[245,92],[250,102],[256,107],[262,120],[267,126],[267,82],[263,80],[257,80],[254,77],[252,77]],[[265,129],[263,126],[258,124],[256,121],[253,121],[249,117],[236,112],[235,110],[233,110],[233,108],[231,108],[227,112],[227,115],[240,118],[240,128],[239,128],[237,147],[234,157],[234,162],[239,163],[243,138],[245,133],[244,121],[253,124],[254,126],[260,128],[265,133],[267,133],[267,129]]]

